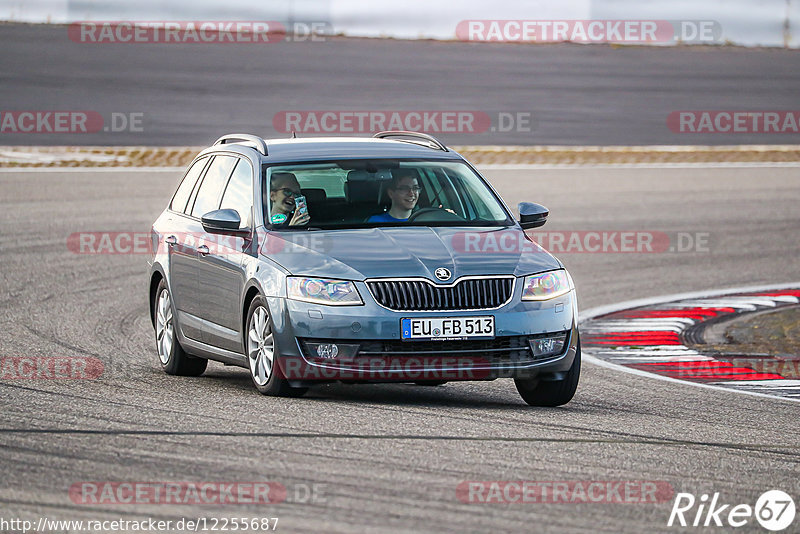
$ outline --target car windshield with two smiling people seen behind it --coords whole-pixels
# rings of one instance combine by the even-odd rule
[[[495,194],[460,161],[346,160],[265,171],[265,219],[275,229],[513,224]]]

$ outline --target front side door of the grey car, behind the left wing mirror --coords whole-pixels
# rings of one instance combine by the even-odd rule
[[[215,209],[234,209],[241,229],[253,229],[253,165],[239,158]],[[239,305],[245,283],[243,257],[251,244],[248,235],[206,234],[208,253],[198,257],[198,296],[206,322],[206,343],[242,352]]]

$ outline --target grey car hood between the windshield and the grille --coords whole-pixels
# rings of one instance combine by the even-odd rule
[[[344,280],[423,277],[450,270],[524,276],[561,267],[517,227],[398,227],[268,232],[262,254],[293,275]]]

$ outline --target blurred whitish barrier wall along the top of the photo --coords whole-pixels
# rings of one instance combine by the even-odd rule
[[[0,0],[0,19],[66,23],[111,20],[316,21],[362,37],[455,39],[465,20],[713,21],[713,42],[800,47],[800,0]],[[660,43],[674,44],[674,43]]]

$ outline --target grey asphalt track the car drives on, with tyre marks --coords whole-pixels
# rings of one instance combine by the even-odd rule
[[[84,356],[105,367],[97,380],[0,380],[2,517],[278,517],[285,532],[653,532],[678,530],[666,526],[672,499],[468,504],[456,488],[659,481],[751,506],[766,490],[800,491],[796,403],[591,364],[575,399],[555,409],[527,407],[509,380],[329,385],[282,399],[260,396],[247,371],[221,364],[200,378],[165,375],[147,315],[146,256],[77,254],[67,238],[147,232],[179,174],[0,173],[0,354]],[[800,279],[796,166],[486,175],[509,204],[547,205],[547,230],[707,238],[686,252],[560,254],[581,309]],[[274,481],[289,493],[276,505],[76,503],[69,490],[84,481]],[[305,498],[314,484],[316,497]],[[759,529],[751,519],[742,530]]]

